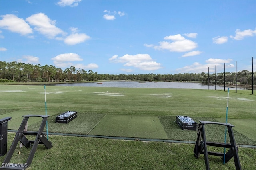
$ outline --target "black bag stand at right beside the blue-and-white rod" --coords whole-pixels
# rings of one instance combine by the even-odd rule
[[[225,158],[225,163],[227,163],[232,157],[234,157],[236,170],[241,170],[240,160],[238,157],[238,148],[236,147],[236,141],[234,139],[234,133],[232,130],[232,127],[234,127],[234,125],[231,125],[230,123],[219,123],[219,122],[201,121],[201,120],[199,122],[200,122],[200,124],[198,124],[198,133],[197,133],[196,145],[194,148],[194,156],[196,158],[198,158],[200,156],[200,154],[204,153],[204,162],[205,162],[206,170],[210,170],[208,154],[214,155],[214,156],[222,156],[222,160]],[[226,126],[228,128],[230,144],[207,142],[206,135],[205,135],[205,128],[204,128],[204,125],[206,125],[206,124],[216,124],[216,125]],[[202,141],[201,141],[201,139],[202,139]],[[230,148],[230,149],[225,154],[218,153],[218,152],[209,152],[209,151],[207,151],[207,145],[214,146],[214,147]]]

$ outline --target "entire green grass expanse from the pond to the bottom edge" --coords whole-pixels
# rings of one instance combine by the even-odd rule
[[[197,133],[180,129],[174,122],[176,115],[190,116],[197,122],[224,122],[228,95],[221,90],[79,86],[46,86],[46,92],[50,132],[178,141],[196,141]],[[236,143],[256,145],[256,96],[244,91],[230,92],[229,97],[228,123],[235,125]],[[55,116],[65,111],[78,111],[78,117],[68,124],[55,123]],[[8,129],[18,129],[22,115],[27,114],[45,115],[44,86],[1,84],[0,118],[12,117]],[[40,118],[28,122],[28,130],[37,131]],[[8,133],[8,137],[10,146],[14,134]],[[207,125],[206,137],[223,142],[224,129]],[[195,159],[191,144],[54,135],[50,141],[54,147],[39,147],[30,169],[204,169],[203,156]],[[24,161],[29,149],[17,150],[21,154],[15,152],[14,162],[18,158]],[[242,169],[254,168],[255,149],[239,148],[239,156]],[[234,161],[223,165],[220,158],[211,157],[210,167],[234,169]]]

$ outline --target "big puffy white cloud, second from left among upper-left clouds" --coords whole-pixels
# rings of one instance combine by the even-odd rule
[[[50,18],[48,18],[44,13],[34,14],[26,18],[26,21],[28,21],[30,25],[34,25],[34,29],[36,31],[45,35],[49,39],[53,39],[59,34],[65,35],[64,31],[55,26],[56,21],[50,20]]]

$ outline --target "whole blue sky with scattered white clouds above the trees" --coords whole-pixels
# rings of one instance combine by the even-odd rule
[[[1,0],[1,61],[98,74],[256,67],[256,1]],[[255,70],[255,69],[254,69]]]

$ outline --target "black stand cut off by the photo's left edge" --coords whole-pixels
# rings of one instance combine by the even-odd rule
[[[12,117],[0,119],[0,156],[7,153],[7,122],[11,119]]]

